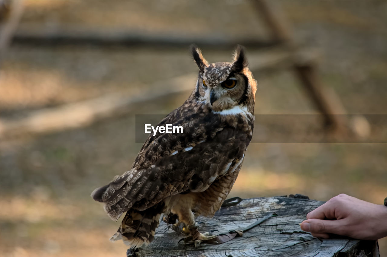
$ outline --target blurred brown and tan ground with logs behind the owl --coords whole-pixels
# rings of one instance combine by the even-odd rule
[[[0,40],[0,256],[126,252],[90,193],[134,161],[136,114],[167,114],[188,97],[192,42],[210,62],[247,47],[256,114],[319,113],[295,67],[312,67],[333,113],[386,114],[386,1],[273,2],[274,19],[242,0],[2,2],[1,37],[14,40]],[[372,136],[361,117],[358,134]],[[229,196],[382,204],[387,144],[365,142],[250,144]]]

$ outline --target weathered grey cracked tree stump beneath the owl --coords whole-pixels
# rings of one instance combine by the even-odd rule
[[[243,230],[259,218],[270,213],[278,216],[269,218],[247,232],[242,237],[212,245],[185,245],[178,241],[185,234],[177,233],[161,222],[153,242],[134,255],[138,257],[169,256],[211,256],[211,257],[255,257],[255,256],[306,256],[306,257],[365,257],[379,256],[377,241],[355,240],[346,237],[320,239],[301,230],[299,223],[305,220],[308,212],[324,202],[309,200],[307,196],[296,194],[270,198],[252,198],[222,206],[212,218],[197,217],[199,230],[207,232],[219,230]],[[230,206],[231,205],[231,206]],[[215,232],[218,233],[218,232]]]

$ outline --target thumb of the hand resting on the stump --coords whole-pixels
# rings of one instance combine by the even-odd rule
[[[343,228],[341,220],[309,219],[301,223],[302,230],[313,234],[332,233],[342,235]]]

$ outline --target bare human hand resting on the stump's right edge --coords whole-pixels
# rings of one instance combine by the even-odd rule
[[[387,236],[387,207],[339,194],[308,213],[301,229],[313,237],[329,238],[332,233],[377,240]]]

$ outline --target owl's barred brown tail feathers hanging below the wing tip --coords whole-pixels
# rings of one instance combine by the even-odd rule
[[[148,245],[154,238],[160,217],[165,211],[164,201],[144,211],[130,209],[122,220],[120,228],[110,238],[110,241],[122,239],[130,247],[136,249]]]

